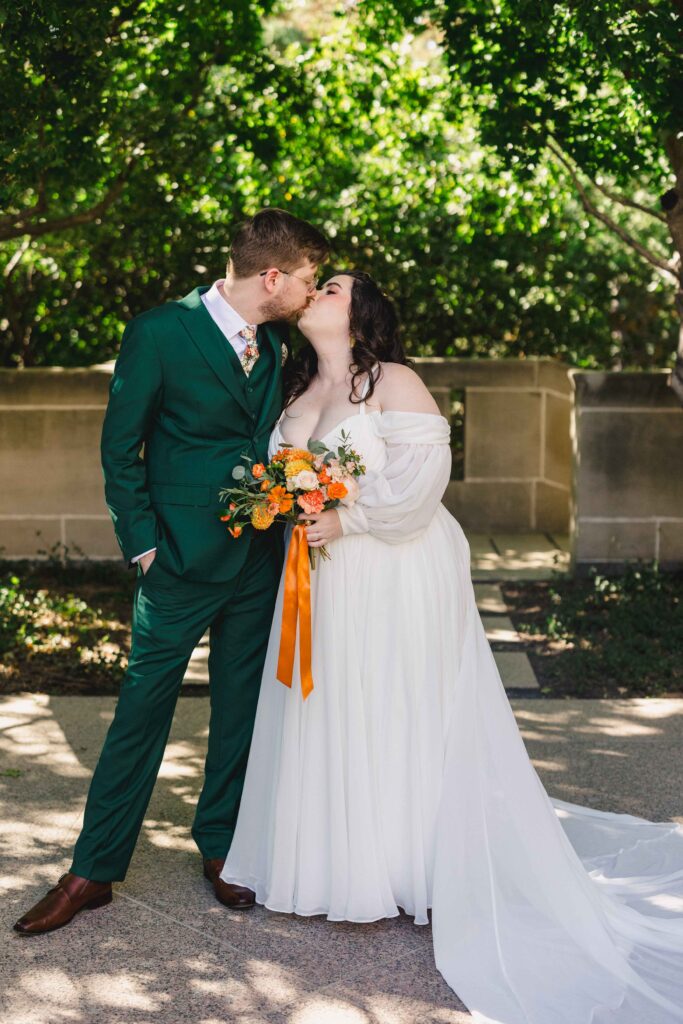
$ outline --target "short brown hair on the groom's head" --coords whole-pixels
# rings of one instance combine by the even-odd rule
[[[271,266],[292,271],[306,259],[323,263],[329,252],[328,240],[307,220],[270,207],[238,228],[230,245],[228,270],[236,278],[251,278]]]

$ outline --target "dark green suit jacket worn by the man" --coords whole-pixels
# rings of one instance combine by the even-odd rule
[[[233,485],[231,472],[244,465],[243,454],[267,460],[283,403],[289,333],[281,324],[259,327],[271,372],[252,397],[229,342],[201,300],[204,291],[127,326],[110,386],[101,458],[104,496],[126,561],[157,548],[160,564],[171,572],[220,582],[240,571],[254,531],[248,526],[239,540],[228,535],[218,518],[218,492]],[[268,535],[270,543],[282,544],[276,527]]]

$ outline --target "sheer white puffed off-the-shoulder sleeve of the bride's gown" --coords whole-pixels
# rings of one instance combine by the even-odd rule
[[[338,508],[344,536],[372,534],[387,544],[410,541],[429,525],[451,478],[451,428],[431,413],[382,413],[387,445],[381,472],[359,479],[360,496]]]

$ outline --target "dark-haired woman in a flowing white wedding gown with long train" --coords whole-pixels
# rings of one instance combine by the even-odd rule
[[[305,700],[297,668],[276,679],[281,582],[221,879],[330,921],[433,908],[436,965],[475,1021],[683,1021],[683,827],[549,799],[440,504],[449,424],[391,303],[340,273],[299,327],[270,455],[345,432],[367,475],[355,505],[306,517],[332,557],[311,573]]]

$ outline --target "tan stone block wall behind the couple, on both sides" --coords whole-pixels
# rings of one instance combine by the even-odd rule
[[[120,558],[99,434],[113,366],[0,370],[0,555]],[[683,564],[683,410],[666,373],[551,359],[418,359],[450,415],[464,392],[464,478],[445,503],[484,532],[566,532],[574,564]],[[44,557],[44,555],[43,555]]]

